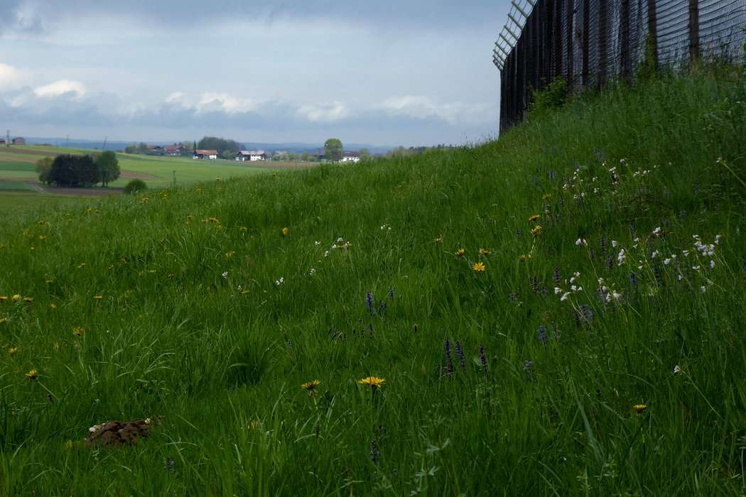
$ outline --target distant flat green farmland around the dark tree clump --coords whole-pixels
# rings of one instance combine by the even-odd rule
[[[96,153],[95,150],[25,146],[0,148],[0,197],[7,190],[34,191],[27,181],[37,180],[36,162],[44,156],[56,156],[60,153]],[[113,189],[123,188],[133,178],[140,178],[150,189],[169,186],[186,186],[192,183],[214,182],[216,179],[228,180],[231,177],[245,177],[262,172],[277,171],[286,168],[307,168],[313,166],[308,162],[236,162],[231,160],[195,160],[191,157],[141,156],[131,153],[117,153],[119,169],[122,175],[119,180],[110,183]],[[81,189],[81,194],[87,191]],[[0,213],[7,212],[4,206],[16,208],[16,203],[36,205],[46,201],[50,194],[31,194],[28,199],[0,198]],[[62,196],[64,198],[64,196]],[[19,204],[19,205],[20,205]]]

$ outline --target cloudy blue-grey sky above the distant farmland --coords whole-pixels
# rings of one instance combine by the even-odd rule
[[[0,0],[0,135],[404,147],[497,136],[510,1]]]

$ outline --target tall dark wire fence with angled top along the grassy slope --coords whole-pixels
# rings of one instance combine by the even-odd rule
[[[533,10],[513,0],[495,43],[501,133],[524,118],[531,89],[557,76],[578,91],[611,78],[633,80],[642,63],[656,69],[745,57],[746,0],[526,1]]]

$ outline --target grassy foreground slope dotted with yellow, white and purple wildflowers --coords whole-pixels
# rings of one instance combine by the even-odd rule
[[[0,494],[744,493],[744,81],[7,218]]]

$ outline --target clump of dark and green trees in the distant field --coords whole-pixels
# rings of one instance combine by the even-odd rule
[[[43,157],[37,160],[39,180],[46,185],[57,186],[109,186],[119,179],[119,160],[116,153],[105,151],[95,156],[62,153],[54,159]]]

